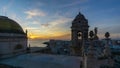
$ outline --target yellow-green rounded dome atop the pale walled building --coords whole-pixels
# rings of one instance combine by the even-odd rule
[[[0,16],[0,33],[24,34],[22,27],[12,19]]]

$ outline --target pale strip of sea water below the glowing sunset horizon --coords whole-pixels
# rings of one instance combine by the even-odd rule
[[[43,43],[47,41],[49,40],[30,39],[28,40],[28,46],[30,44],[30,47],[46,47],[47,45]]]

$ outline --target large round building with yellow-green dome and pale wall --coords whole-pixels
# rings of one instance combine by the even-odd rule
[[[0,58],[26,52],[27,33],[12,19],[0,16]]]

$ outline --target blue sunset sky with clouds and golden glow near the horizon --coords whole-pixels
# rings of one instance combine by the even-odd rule
[[[70,39],[71,22],[81,12],[90,26],[120,39],[120,0],[0,0],[0,15],[18,22],[32,39]]]

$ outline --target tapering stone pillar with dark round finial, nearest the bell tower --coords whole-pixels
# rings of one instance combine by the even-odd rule
[[[90,46],[88,48],[87,58],[86,58],[86,68],[99,68],[98,67],[98,61],[96,57],[96,49],[93,46],[93,31],[90,31]]]

